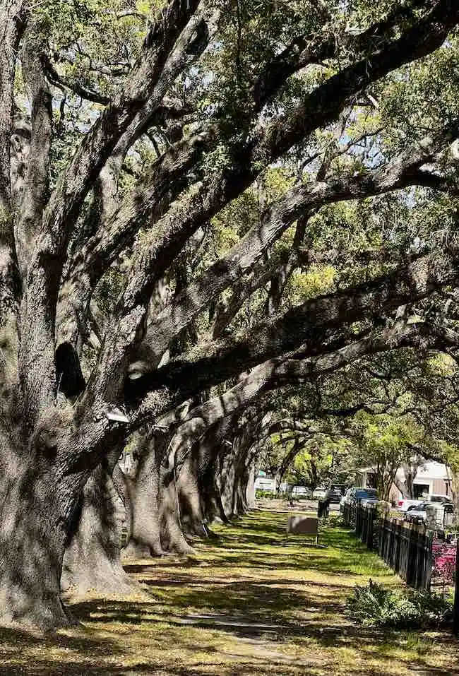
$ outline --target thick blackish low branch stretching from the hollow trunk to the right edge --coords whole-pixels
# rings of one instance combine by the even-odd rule
[[[268,357],[276,357],[300,345],[304,355],[312,355],[327,345],[337,331],[355,321],[371,320],[391,312],[400,304],[427,297],[443,285],[459,279],[458,251],[422,256],[400,266],[390,275],[345,291],[310,300],[279,318],[259,324],[246,340],[216,341],[206,344],[205,357],[195,355],[193,363],[170,362],[136,381],[126,381],[126,396],[139,396],[148,389],[179,387],[184,398],[197,389],[224,381]],[[198,366],[201,364],[201,366]],[[189,387],[190,386],[190,387]]]

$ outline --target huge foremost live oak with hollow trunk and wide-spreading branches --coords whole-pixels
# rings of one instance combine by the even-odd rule
[[[117,520],[116,459],[133,432],[146,429],[161,458],[157,546],[180,545],[189,489],[177,458],[191,462],[180,454],[191,440],[263,391],[419,336],[454,340],[441,326],[388,321],[455,285],[454,237],[424,245],[405,232],[396,253],[383,237],[359,252],[375,266],[342,287],[294,307],[282,290],[305,256],[342,254],[317,234],[335,203],[395,190],[400,209],[417,190],[420,202],[425,191],[453,199],[458,21],[451,0],[371,11],[331,0],[1,0],[2,621],[69,621],[64,551],[80,552],[86,579],[95,543],[84,542],[83,512],[102,523],[108,504]],[[432,74],[444,83],[433,98]],[[264,188],[280,164],[285,181]],[[201,256],[215,219],[255,190],[231,246]],[[266,285],[242,336],[244,302]],[[252,444],[244,434],[238,444],[213,458],[220,478],[225,463],[248,469]],[[116,576],[116,546],[112,555]]]

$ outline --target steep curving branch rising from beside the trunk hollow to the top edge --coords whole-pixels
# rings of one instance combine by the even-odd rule
[[[196,0],[172,0],[169,3],[162,21],[148,32],[129,81],[85,135],[49,200],[42,235],[37,238],[30,264],[28,298],[25,299],[29,321],[25,320],[25,324],[35,322],[46,326],[53,339],[66,247],[83,200],[136,114],[147,101],[152,110],[160,105],[167,88],[188,62],[189,49],[192,52],[196,35],[207,30],[203,16],[194,14],[197,6]],[[28,381],[27,375],[30,362],[42,355],[41,340],[37,336],[37,333],[30,336],[20,368],[31,419],[33,411],[37,410],[32,401],[41,401],[39,380]],[[51,362],[47,366],[47,370],[54,370]]]

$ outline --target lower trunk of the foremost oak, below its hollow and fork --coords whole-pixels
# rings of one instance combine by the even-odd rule
[[[17,440],[0,445],[0,621],[66,626],[59,581],[78,480]]]

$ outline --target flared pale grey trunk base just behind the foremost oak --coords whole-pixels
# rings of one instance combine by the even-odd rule
[[[121,566],[124,504],[109,468],[98,467],[86,483],[76,530],[64,556],[61,588],[76,595],[129,593],[134,584]]]

